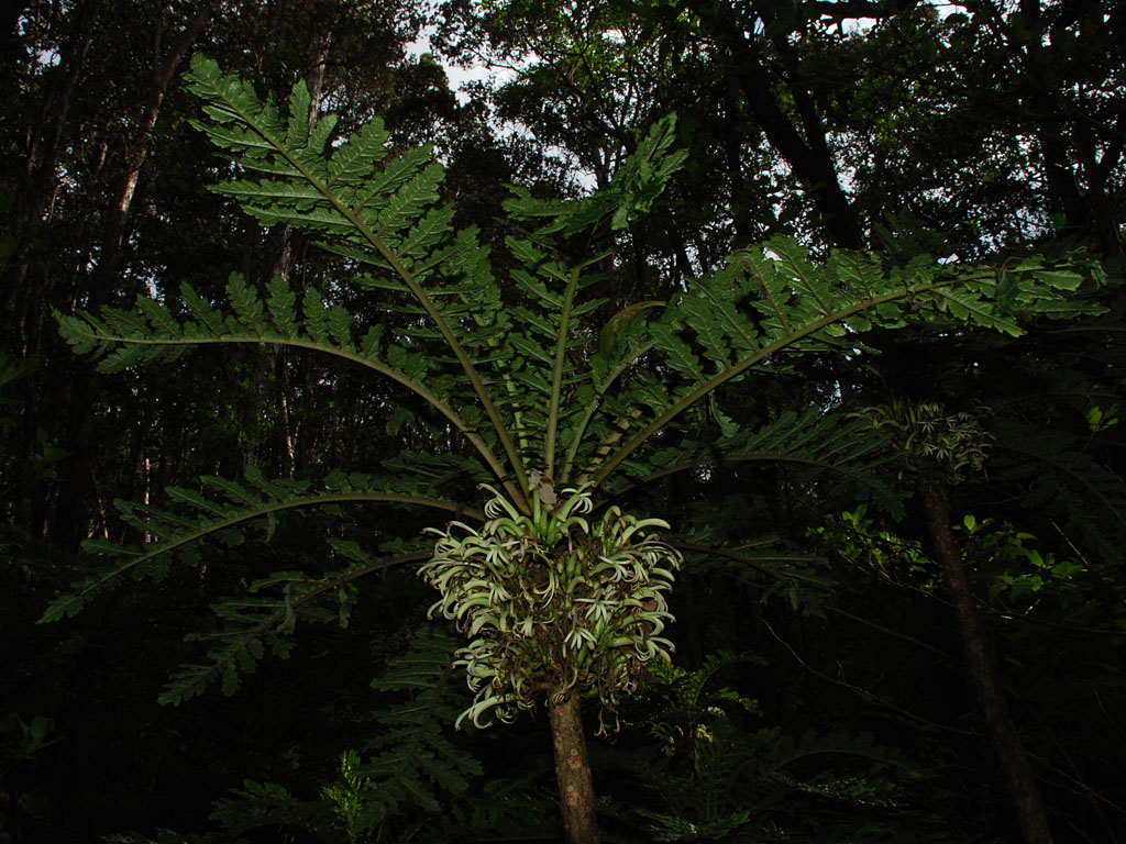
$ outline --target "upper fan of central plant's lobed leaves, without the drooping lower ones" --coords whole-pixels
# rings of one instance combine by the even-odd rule
[[[191,320],[143,298],[137,313],[60,315],[75,350],[102,356],[110,370],[212,342],[293,345],[358,362],[413,392],[461,431],[497,479],[515,484],[507,492],[525,511],[528,465],[560,483],[589,477],[604,484],[640,457],[654,433],[757,367],[777,371],[802,353],[855,350],[868,329],[912,320],[1019,334],[1017,315],[1076,313],[1060,304],[1083,281],[1074,269],[1029,259],[1007,264],[1002,277],[938,266],[927,255],[885,267],[874,255],[844,252],[817,266],[795,241],[775,239],[735,253],[678,294],[659,318],[634,312],[623,322],[619,315],[607,324],[609,335],[596,338],[579,320],[601,300],[579,294],[597,280],[605,255],[575,250],[584,251],[599,224],[614,231],[647,209],[681,165],[682,153],[671,151],[671,118],[652,128],[605,191],[570,203],[517,192],[507,210],[538,227],[508,239],[520,299],[503,302],[474,233],[453,233],[450,213],[434,206],[441,168],[428,163],[427,147],[391,156],[388,135],[374,122],[327,153],[333,120],[306,126],[301,84],[291,99],[291,115],[300,119],[286,120],[272,101],[200,56],[188,81],[211,118],[199,128],[242,172],[262,177],[218,190],[267,224],[321,237],[360,271],[354,284],[384,291],[381,307],[399,316],[357,340],[356,317],[331,298],[305,290],[298,315],[298,294],[283,281],[270,284],[263,302],[234,277],[229,313],[187,288]],[[656,379],[641,365],[651,351],[673,377]],[[715,416],[726,434],[736,431],[718,410]]]

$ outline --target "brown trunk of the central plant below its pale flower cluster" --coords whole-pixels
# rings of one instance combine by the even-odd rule
[[[582,730],[579,690],[552,694],[547,711],[555,747],[555,781],[568,844],[598,844],[595,785],[587,761],[587,735]]]

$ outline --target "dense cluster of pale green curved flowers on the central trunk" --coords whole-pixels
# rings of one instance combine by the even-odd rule
[[[605,733],[606,716],[636,689],[644,663],[674,649],[661,634],[672,620],[664,593],[681,557],[652,532],[669,524],[617,506],[588,519],[589,486],[556,496],[539,481],[530,515],[483,488],[493,495],[488,521],[429,529],[438,541],[419,568],[441,592],[430,613],[470,639],[457,656],[476,697],[458,724],[511,721],[540,695],[578,688],[598,697]]]

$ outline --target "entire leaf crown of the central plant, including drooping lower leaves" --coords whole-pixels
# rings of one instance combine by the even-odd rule
[[[378,120],[330,144],[334,120],[306,120],[302,83],[284,118],[276,104],[202,56],[187,80],[209,118],[197,126],[244,174],[217,190],[266,224],[321,239],[359,275],[323,293],[298,291],[280,278],[260,291],[233,276],[225,306],[185,287],[182,304],[141,297],[133,311],[59,314],[68,341],[99,357],[105,371],[167,361],[187,347],[212,343],[294,347],[358,363],[413,393],[459,432],[473,457],[459,458],[455,473],[475,479],[491,473],[525,514],[539,506],[545,488],[534,490],[538,467],[561,485],[574,477],[611,492],[619,467],[643,483],[669,467],[698,465],[716,450],[734,460],[832,469],[894,509],[894,496],[872,482],[879,442],[860,427],[814,411],[784,414],[758,429],[741,425],[721,408],[722,388],[759,370],[786,371],[802,354],[855,352],[874,326],[927,318],[951,329],[964,322],[1020,333],[1016,314],[1058,315],[1060,297],[1083,279],[1034,260],[1008,264],[1003,279],[988,269],[937,266],[927,257],[885,267],[874,255],[838,253],[819,266],[793,240],[775,239],[735,253],[655,318],[647,317],[659,305],[645,303],[590,332],[583,317],[602,302],[580,294],[597,281],[605,255],[577,249],[589,245],[600,224],[614,231],[646,210],[681,165],[682,153],[672,151],[671,117],[652,128],[605,191],[569,203],[517,191],[509,214],[537,227],[508,239],[516,261],[510,280],[519,291],[509,303],[475,234],[454,233],[448,209],[435,206],[443,171],[429,149],[392,155]],[[377,295],[370,324],[334,302],[346,287]],[[660,356],[663,370],[649,365],[651,354]],[[665,429],[690,430],[686,411],[701,399],[709,403],[717,438],[704,446],[694,437],[655,437]],[[188,513],[122,504],[123,518],[146,545],[88,544],[102,565],[56,599],[44,619],[73,614],[123,574],[160,578],[173,558],[197,562],[203,539],[236,545],[250,524],[265,524],[268,538],[272,514],[284,509],[346,501],[455,512],[462,506],[426,494],[434,467],[425,458],[404,455],[394,468],[396,477],[330,475],[321,488],[256,473],[247,485],[204,478],[199,490],[168,491]],[[343,554],[342,546],[336,551]],[[163,700],[179,702],[215,679],[233,690],[238,671],[252,668],[266,646],[285,655],[283,636],[298,614],[327,619],[318,600],[378,567],[364,565],[358,549],[351,556],[357,565],[345,572],[284,572],[256,581],[244,598],[220,602],[223,627],[207,636],[214,645],[209,663],[184,670]]]

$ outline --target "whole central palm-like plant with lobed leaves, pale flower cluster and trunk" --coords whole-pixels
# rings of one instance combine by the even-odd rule
[[[726,392],[802,356],[855,353],[874,326],[928,320],[1019,333],[1017,314],[1072,313],[1062,295],[1083,280],[1035,260],[1002,276],[926,255],[905,267],[859,252],[814,263],[793,240],[776,239],[734,253],[668,302],[607,320],[606,302],[590,295],[614,260],[605,244],[622,240],[680,167],[672,117],[604,190],[545,201],[517,189],[498,277],[476,233],[454,231],[453,209],[438,204],[443,167],[429,147],[393,154],[377,119],[340,137],[332,115],[309,119],[301,83],[286,115],[202,56],[186,78],[203,102],[198,128],[238,171],[215,190],[263,225],[311,235],[339,258],[340,275],[304,290],[282,278],[258,289],[233,276],[225,302],[185,287],[175,300],[59,314],[63,334],[102,371],[213,344],[329,356],[412,397],[404,404],[422,408],[413,421],[431,447],[311,479],[253,470],[242,481],[205,478],[169,490],[170,509],[124,505],[144,544],[91,542],[88,576],[45,620],[79,611],[126,575],[163,576],[197,559],[203,542],[234,545],[253,530],[268,537],[280,511],[368,503],[455,514],[435,526],[437,538],[375,549],[336,538],[319,571],[250,583],[216,607],[207,659],[182,670],[163,700],[178,703],[214,681],[232,691],[267,648],[285,655],[298,620],[345,618],[357,578],[421,564],[440,595],[434,611],[470,639],[458,657],[477,692],[467,717],[507,719],[546,703],[573,842],[597,839],[581,699],[597,697],[608,719],[640,665],[671,652],[664,595],[680,554],[659,536],[669,526],[629,513],[625,494],[716,454],[864,477],[878,432],[842,428],[828,412],[798,427],[787,414],[747,429],[724,412]],[[339,304],[346,291],[364,307]],[[698,436],[701,417],[714,436]],[[482,493],[444,496],[436,474],[471,478]]]

